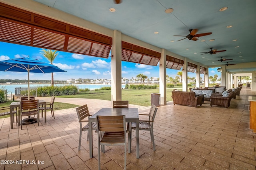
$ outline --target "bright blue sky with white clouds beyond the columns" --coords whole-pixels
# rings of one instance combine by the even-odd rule
[[[0,60],[13,59],[17,57],[30,57],[49,63],[49,61],[40,53],[42,48],[18,45],[12,43],[0,42]],[[54,80],[67,79],[110,79],[111,78],[111,58],[92,57],[76,53],[67,53],[58,51],[58,56],[54,60],[54,65],[67,72],[54,73]],[[170,77],[176,77],[179,70],[166,69],[166,74]],[[131,79],[139,73],[150,77],[159,77],[159,67],[143,65],[122,61],[122,77]],[[209,76],[220,73],[216,68],[209,69]],[[196,77],[196,73],[188,73],[189,77]],[[0,71],[0,79],[28,79],[27,73],[21,72],[3,72]],[[30,79],[50,80],[51,74],[30,73]]]

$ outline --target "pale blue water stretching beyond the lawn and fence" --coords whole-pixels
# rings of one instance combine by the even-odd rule
[[[68,84],[54,84],[55,86],[63,86]],[[111,87],[111,85],[94,85],[94,84],[73,84],[74,86],[77,86],[78,89],[85,89],[88,88],[90,90],[94,89],[100,89],[101,87]],[[30,87],[42,87],[42,86],[50,86],[50,84],[30,84]],[[12,93],[14,95],[15,93],[15,87],[28,87],[27,84],[11,84],[11,85],[0,85],[0,89],[6,89],[8,91],[8,95]],[[125,85],[122,85],[122,88],[124,88]]]

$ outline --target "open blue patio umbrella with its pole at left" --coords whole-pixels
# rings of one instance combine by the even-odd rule
[[[0,61],[0,71],[16,71],[16,72],[28,72],[28,92],[29,89],[29,73],[55,73],[66,72],[59,67],[48,64],[38,59],[30,59],[29,57],[15,58]],[[28,93],[29,99],[29,93]]]

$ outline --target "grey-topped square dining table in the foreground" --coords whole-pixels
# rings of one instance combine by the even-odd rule
[[[89,118],[89,141],[90,141],[90,158],[93,157],[92,151],[92,123],[96,122],[96,116],[121,116],[125,115],[126,122],[135,122],[136,128],[136,158],[140,158],[139,154],[139,112],[138,108],[102,108]],[[128,146],[128,153],[131,152],[131,147]]]

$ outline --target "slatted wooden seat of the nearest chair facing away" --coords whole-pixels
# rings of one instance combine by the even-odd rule
[[[124,143],[124,131],[122,132],[104,132],[100,143],[117,144]]]

